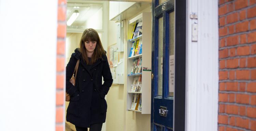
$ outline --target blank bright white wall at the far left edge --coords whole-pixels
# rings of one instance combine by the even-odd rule
[[[55,131],[57,0],[0,0],[0,130]]]

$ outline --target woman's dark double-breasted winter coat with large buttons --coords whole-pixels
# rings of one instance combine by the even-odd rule
[[[103,55],[102,58],[88,66],[79,49],[76,49],[67,64],[66,91],[71,96],[71,100],[66,118],[76,126],[89,127],[90,124],[104,123],[106,120],[107,103],[104,97],[108,93],[113,79],[106,55]],[[80,63],[75,86],[73,86],[69,80],[74,72],[77,59],[80,59]]]

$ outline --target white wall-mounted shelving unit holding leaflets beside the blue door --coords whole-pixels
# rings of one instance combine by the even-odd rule
[[[142,35],[138,36],[137,38],[129,39],[127,41],[127,53],[129,56],[131,44],[133,41],[136,41],[138,39],[142,40],[142,54],[132,56],[127,58],[127,110],[128,111],[135,111],[135,112],[141,112],[142,114],[150,114],[151,113],[151,71],[143,71],[143,67],[150,68],[151,69],[151,44],[152,44],[152,24],[151,24],[151,16],[152,14],[149,12],[143,12],[140,15],[132,18],[131,20],[127,21],[128,28],[127,28],[127,38],[130,38],[130,34],[132,32],[132,29],[134,27],[134,24],[142,21]],[[133,63],[133,59],[142,57],[142,72],[136,73],[136,74],[130,74],[131,73],[131,67]],[[131,92],[131,85],[133,78],[135,76],[142,76],[142,84],[141,84],[141,92]],[[132,110],[131,103],[132,103],[132,96],[134,93],[140,93],[141,94],[141,105],[142,109],[141,111],[138,110]]]

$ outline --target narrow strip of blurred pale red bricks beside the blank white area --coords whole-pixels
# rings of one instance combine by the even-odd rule
[[[58,0],[58,29],[57,29],[57,75],[56,75],[56,131],[64,131],[65,125],[65,43],[66,43],[66,11],[67,1]]]

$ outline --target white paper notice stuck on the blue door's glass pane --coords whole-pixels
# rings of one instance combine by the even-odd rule
[[[170,55],[169,57],[169,92],[174,92],[175,85],[175,57]]]

